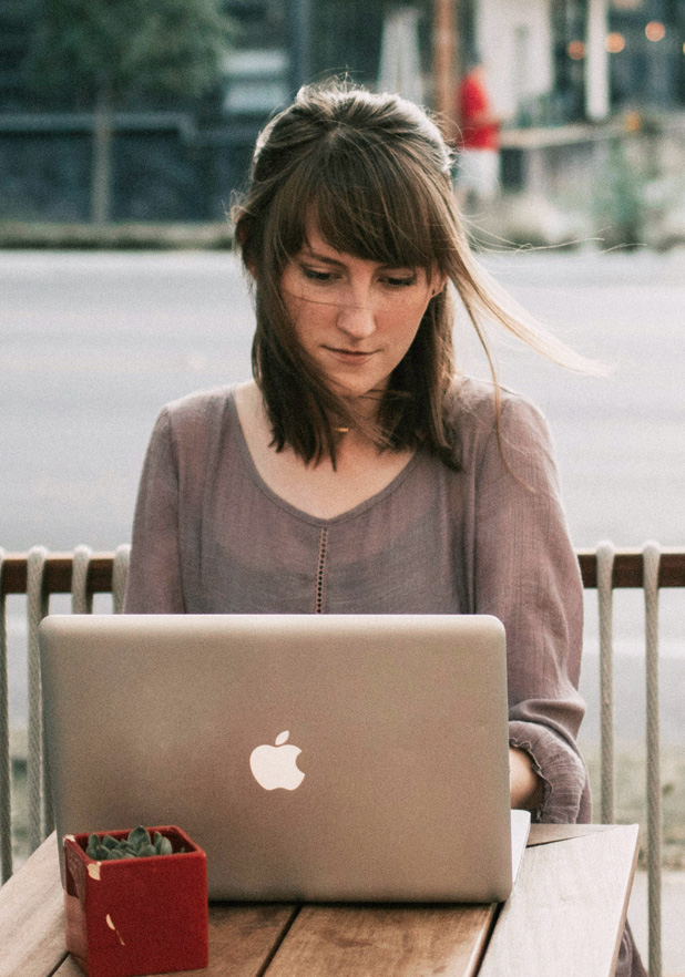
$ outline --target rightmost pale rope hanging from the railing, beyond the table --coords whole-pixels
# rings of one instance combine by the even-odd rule
[[[657,543],[643,548],[647,689],[647,885],[650,975],[662,977],[662,784],[658,727],[658,567]]]

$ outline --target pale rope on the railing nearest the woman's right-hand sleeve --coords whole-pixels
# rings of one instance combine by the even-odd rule
[[[602,823],[614,823],[614,641],[612,576],[615,549],[600,543],[597,559],[597,599],[600,614],[600,716],[602,769]]]

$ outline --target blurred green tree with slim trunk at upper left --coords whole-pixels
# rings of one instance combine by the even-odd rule
[[[91,219],[111,208],[113,113],[133,97],[196,97],[231,47],[223,0],[39,0],[25,69],[52,99],[94,110]]]

